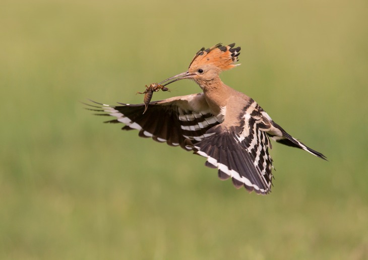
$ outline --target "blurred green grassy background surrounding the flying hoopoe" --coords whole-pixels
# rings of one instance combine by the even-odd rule
[[[367,259],[368,3],[133,2],[2,1],[0,258]],[[79,103],[141,103],[218,42],[242,47],[222,80],[329,162],[274,144],[257,196]]]

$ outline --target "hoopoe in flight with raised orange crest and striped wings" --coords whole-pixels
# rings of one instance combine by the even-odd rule
[[[123,130],[137,129],[140,137],[180,146],[207,158],[205,165],[217,168],[220,179],[231,178],[236,188],[244,186],[249,192],[267,194],[273,178],[270,139],[326,157],[287,134],[252,98],[221,81],[221,72],[239,65],[234,63],[240,47],[234,46],[219,43],[203,47],[187,72],[159,83],[165,86],[192,79],[201,93],[150,102],[145,114],[145,104],[110,106],[94,102],[100,109],[92,110],[115,117],[106,122],[124,123]]]

